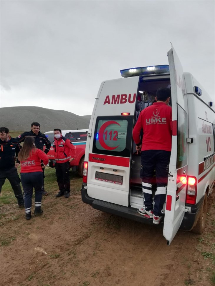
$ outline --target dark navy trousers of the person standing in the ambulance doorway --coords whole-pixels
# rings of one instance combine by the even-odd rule
[[[147,150],[141,153],[141,174],[143,187],[143,207],[145,210],[153,210],[156,216],[161,216],[161,210],[166,199],[168,182],[170,151]],[[155,170],[155,178],[154,178]],[[152,184],[157,184],[157,190],[152,196]]]

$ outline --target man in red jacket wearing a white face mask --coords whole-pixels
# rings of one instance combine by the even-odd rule
[[[54,159],[56,160],[55,170],[59,192],[55,197],[70,197],[70,162],[75,159],[76,148],[67,139],[62,136],[60,129],[54,129]]]

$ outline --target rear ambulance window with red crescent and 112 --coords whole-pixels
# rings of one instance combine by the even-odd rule
[[[97,117],[93,153],[130,157],[133,116]]]

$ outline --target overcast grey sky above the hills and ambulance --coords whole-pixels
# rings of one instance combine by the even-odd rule
[[[168,64],[214,97],[214,0],[1,0],[0,106],[91,115],[100,84],[120,69]],[[171,43],[170,43],[171,42]]]

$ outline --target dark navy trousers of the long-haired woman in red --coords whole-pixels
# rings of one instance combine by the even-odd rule
[[[41,207],[43,173],[21,173],[21,183],[24,192],[25,212],[31,212],[33,188],[35,192],[35,207]]]

